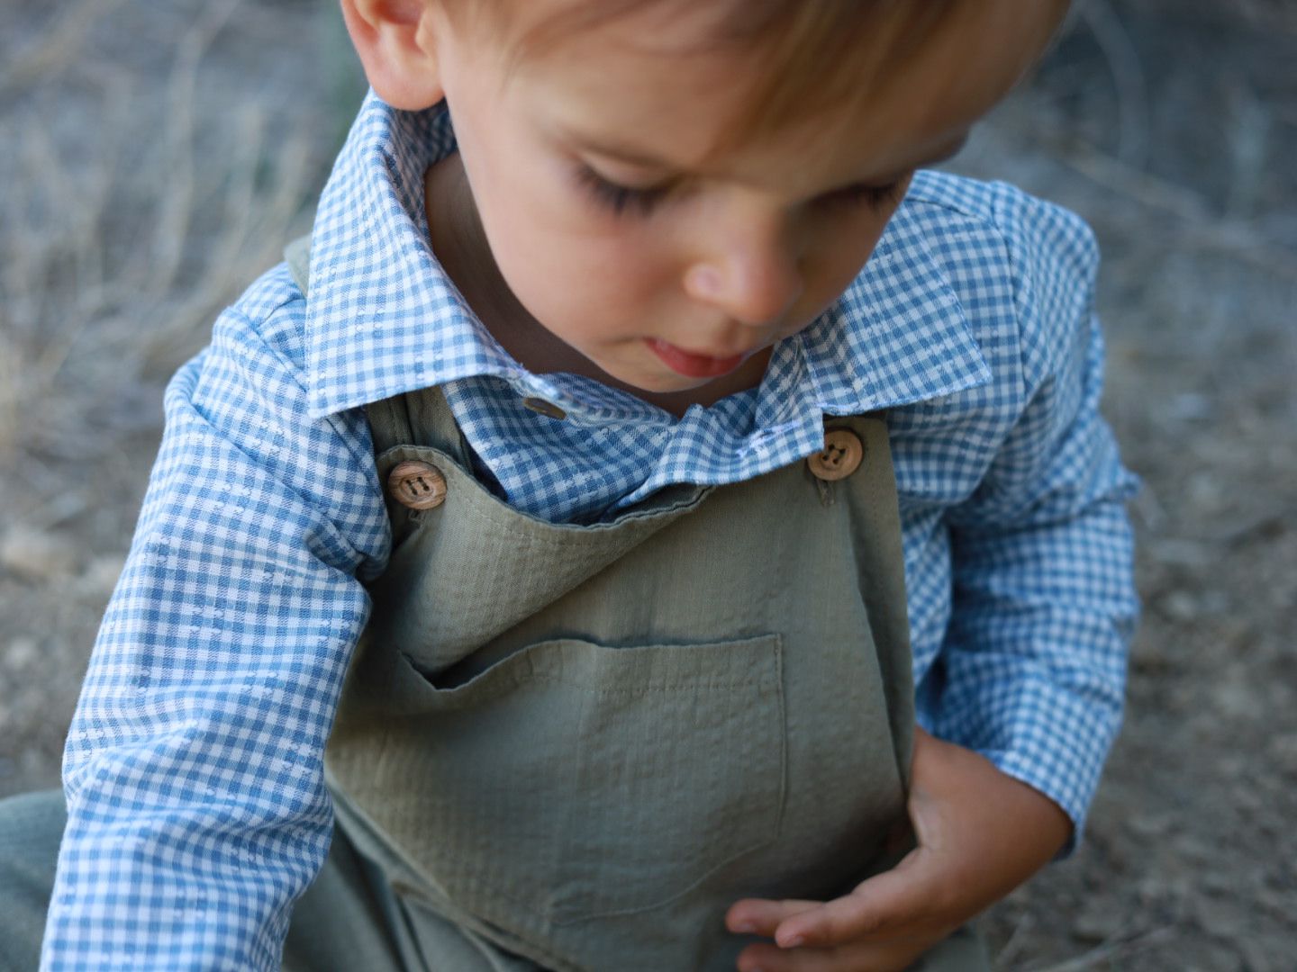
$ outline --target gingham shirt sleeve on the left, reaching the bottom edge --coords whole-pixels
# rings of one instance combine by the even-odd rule
[[[307,415],[301,295],[267,310],[222,315],[167,388],[65,749],[43,969],[278,969],[324,859],[357,578],[389,535],[363,413]]]

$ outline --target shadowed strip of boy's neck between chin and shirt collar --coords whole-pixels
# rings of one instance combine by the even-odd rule
[[[691,404],[709,406],[761,382],[769,349],[752,355],[734,372],[686,391],[645,391],[617,381],[551,334],[514,297],[492,258],[458,152],[428,168],[424,207],[432,251],[446,276],[501,347],[533,375],[581,375],[676,416],[682,416]]]

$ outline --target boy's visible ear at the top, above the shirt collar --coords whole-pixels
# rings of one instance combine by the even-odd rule
[[[412,111],[442,98],[434,0],[342,0],[351,44],[379,97]]]

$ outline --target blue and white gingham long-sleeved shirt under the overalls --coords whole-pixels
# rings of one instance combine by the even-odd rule
[[[453,145],[444,111],[371,96],[319,206],[310,299],[270,271],[167,389],[67,739],[43,968],[278,968],[329,842],[322,757],[362,582],[390,547],[362,406],[428,385],[511,504],[580,522],[796,461],[824,415],[888,410],[920,718],[1079,828],[1136,613],[1086,226],[922,172],[760,386],[676,419],[529,375],[485,332],[427,244],[423,172]]]

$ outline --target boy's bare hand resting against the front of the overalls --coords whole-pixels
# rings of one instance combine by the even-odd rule
[[[909,818],[917,845],[842,898],[735,902],[725,925],[751,945],[742,972],[904,969],[1058,851],[1071,822],[987,759],[916,730]]]

